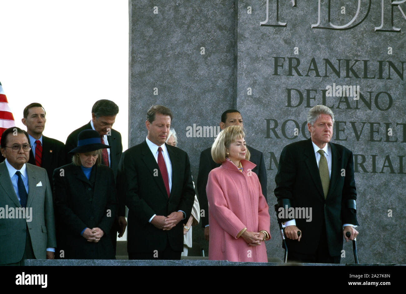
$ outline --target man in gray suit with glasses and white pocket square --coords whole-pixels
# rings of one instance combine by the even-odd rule
[[[54,259],[56,247],[52,191],[45,169],[29,164],[28,134],[17,127],[0,139],[0,264]]]

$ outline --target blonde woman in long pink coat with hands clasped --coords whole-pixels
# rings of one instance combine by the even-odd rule
[[[241,126],[225,128],[212,146],[222,165],[209,173],[209,259],[268,262],[265,240],[271,238],[268,204],[248,161],[250,153]]]

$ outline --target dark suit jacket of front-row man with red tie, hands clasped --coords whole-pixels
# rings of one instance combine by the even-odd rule
[[[146,141],[129,148],[121,156],[117,191],[129,209],[128,252],[152,253],[154,250],[162,251],[166,246],[174,251],[183,250],[183,224],[190,217],[195,194],[189,157],[177,147],[166,145],[166,149],[172,164],[169,198],[158,163]],[[186,219],[169,231],[157,229],[148,222],[154,214],[167,216],[178,210],[186,213]]]

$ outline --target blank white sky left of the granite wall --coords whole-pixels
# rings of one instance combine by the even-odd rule
[[[128,27],[128,0],[0,0],[0,82],[17,127],[39,102],[43,134],[65,143],[110,99],[127,149]]]

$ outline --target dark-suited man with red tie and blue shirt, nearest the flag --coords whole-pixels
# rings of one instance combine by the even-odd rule
[[[30,160],[28,163],[40,166],[47,170],[51,189],[53,188],[52,175],[54,169],[65,164],[65,144],[43,136],[45,128],[45,109],[39,103],[31,103],[24,108],[22,123],[27,127],[30,138]]]

